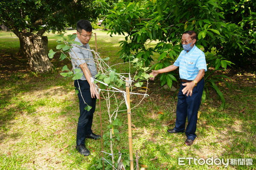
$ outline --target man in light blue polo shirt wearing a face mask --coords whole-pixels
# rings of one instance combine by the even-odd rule
[[[184,132],[186,118],[188,118],[185,130],[187,139],[184,143],[188,146],[193,144],[196,137],[197,114],[204,91],[204,73],[207,71],[204,52],[196,47],[196,38],[195,31],[184,32],[181,37],[183,51],[180,52],[174,64],[151,72],[151,75],[156,77],[160,73],[174,71],[179,67],[181,84],[178,93],[176,123],[173,129],[167,131],[169,133]],[[154,77],[150,79],[154,80]]]

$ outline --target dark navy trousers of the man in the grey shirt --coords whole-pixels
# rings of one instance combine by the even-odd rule
[[[93,133],[91,130],[91,127],[93,123],[93,113],[95,111],[95,106],[96,106],[96,98],[91,98],[90,85],[87,82],[87,80],[80,80],[80,79],[75,80],[74,85],[76,90],[79,91],[78,99],[79,99],[80,116],[77,124],[76,144],[80,145],[85,143],[86,135]],[[80,90],[79,90],[79,86],[80,86]],[[90,111],[84,110],[87,104],[92,107]]]

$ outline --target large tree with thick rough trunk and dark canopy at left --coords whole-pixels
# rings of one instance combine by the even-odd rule
[[[99,4],[92,0],[1,0],[0,23],[20,40],[20,55],[32,71],[46,73],[53,65],[47,56],[46,31],[64,31],[79,19],[95,20]]]

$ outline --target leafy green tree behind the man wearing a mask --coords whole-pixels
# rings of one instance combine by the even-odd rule
[[[244,4],[248,8],[244,11],[246,15],[240,17],[237,14],[233,16],[235,19],[226,19],[242,10]],[[227,77],[216,77],[213,73],[233,64],[228,59],[235,61],[235,57],[253,57],[255,54],[256,13],[252,12],[255,7],[250,7],[253,4],[252,0],[238,3],[235,0],[119,1],[107,16],[106,23],[111,34],[125,35],[120,51],[123,59],[128,60],[131,56],[142,58],[148,66],[153,60],[152,55],[160,54],[152,66],[154,70],[171,65],[182,50],[182,33],[195,30],[198,33],[196,44],[206,53],[211,67],[205,76],[206,87],[214,88],[224,103],[224,96],[215,82]],[[172,81],[176,81],[174,75],[172,72],[161,74],[161,85],[167,84],[171,88]]]

